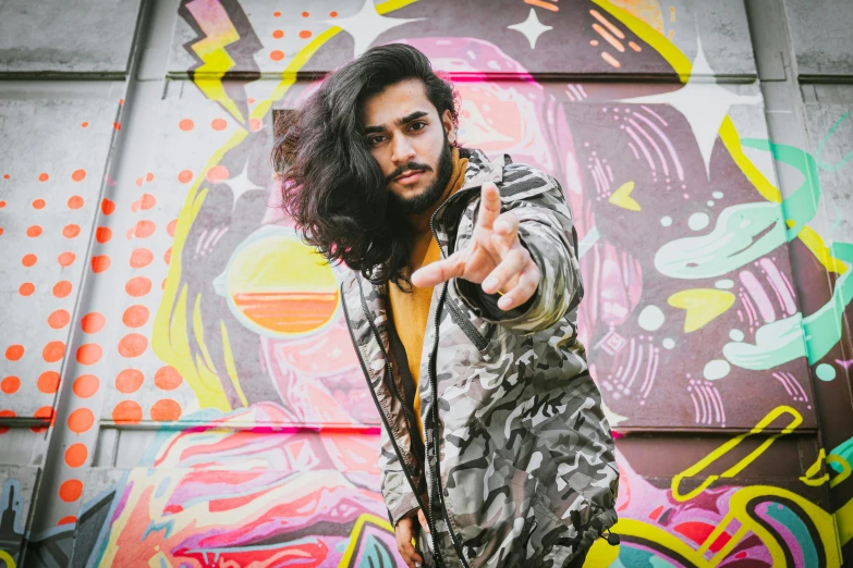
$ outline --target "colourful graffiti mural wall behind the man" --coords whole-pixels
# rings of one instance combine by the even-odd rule
[[[587,566],[853,559],[850,4],[93,4],[0,5],[0,566],[404,566],[342,269],[269,160],[392,41],[574,212],[622,471]]]

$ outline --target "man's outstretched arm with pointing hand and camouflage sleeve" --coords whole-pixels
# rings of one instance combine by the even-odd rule
[[[521,333],[557,323],[580,301],[583,286],[562,188],[551,177],[544,184],[541,192],[508,203],[493,184],[484,185],[470,245],[415,272],[412,283],[455,279],[473,310]]]

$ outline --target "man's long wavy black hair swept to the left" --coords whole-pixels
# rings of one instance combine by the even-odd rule
[[[424,53],[404,44],[375,47],[330,74],[294,113],[280,115],[272,162],[282,207],[305,242],[375,284],[409,284],[410,230],[393,214],[385,177],[364,136],[363,104],[401,81],[424,83],[439,116],[459,125],[458,94]]]

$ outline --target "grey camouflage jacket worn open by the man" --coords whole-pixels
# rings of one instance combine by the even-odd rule
[[[480,187],[493,182],[541,281],[509,312],[461,279],[435,287],[418,385],[424,454],[404,403],[406,365],[392,351],[387,285],[349,273],[344,310],[383,422],[382,495],[394,527],[418,507],[427,513],[431,534],[418,542],[427,565],[562,566],[616,522],[619,480],[576,338],[576,232],[556,180],[509,157],[461,153],[465,183],[431,220],[442,256],[470,245]]]

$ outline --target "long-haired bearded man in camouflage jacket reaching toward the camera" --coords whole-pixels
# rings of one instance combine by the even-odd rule
[[[595,539],[616,542],[619,474],[557,181],[459,147],[454,92],[411,46],[367,51],[289,121],[284,208],[351,269],[342,301],[406,565],[581,566]]]

